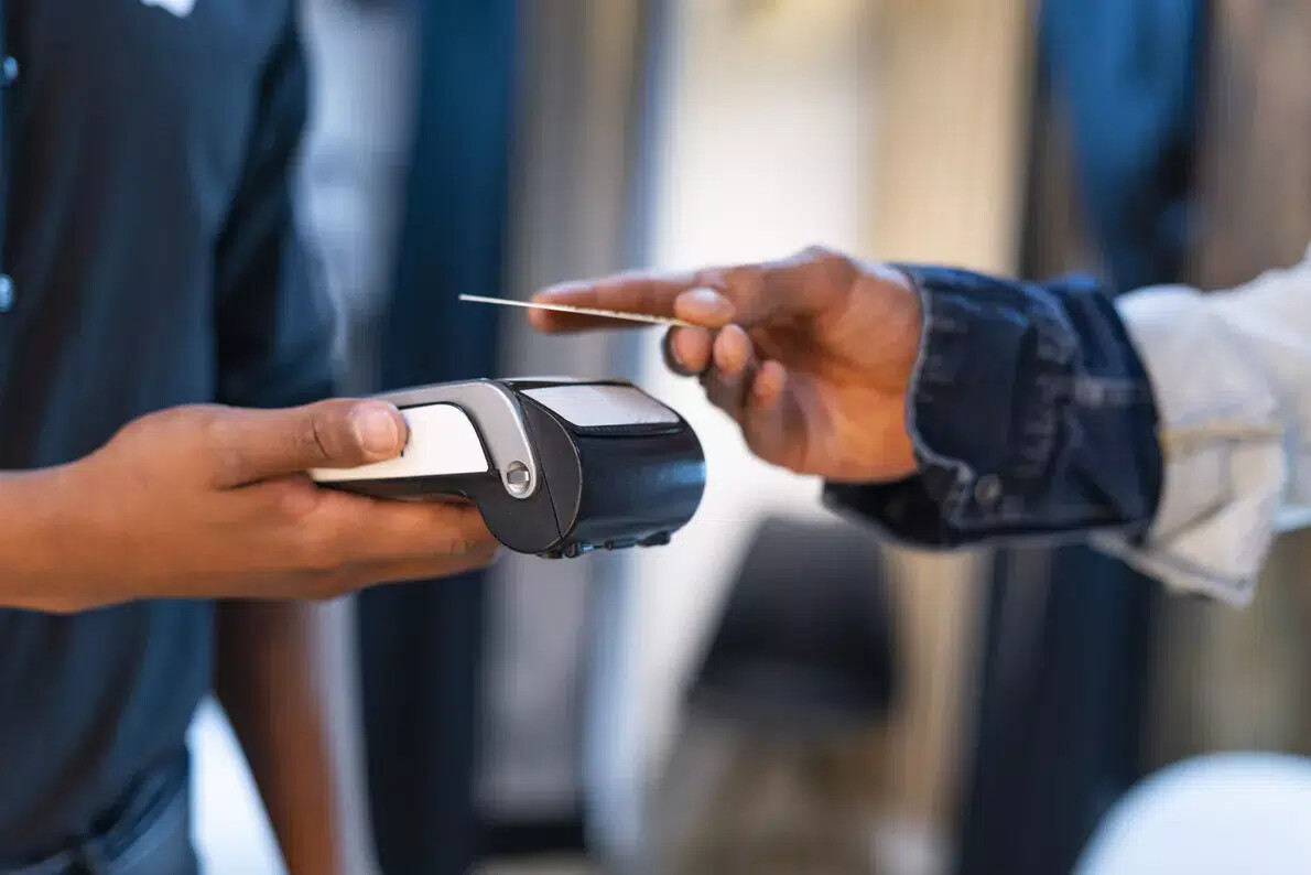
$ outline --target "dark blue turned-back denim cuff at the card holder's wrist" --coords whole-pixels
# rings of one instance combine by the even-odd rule
[[[919,474],[829,484],[826,501],[932,547],[1146,529],[1160,489],[1155,408],[1110,300],[1080,278],[895,266],[923,299],[907,394]]]

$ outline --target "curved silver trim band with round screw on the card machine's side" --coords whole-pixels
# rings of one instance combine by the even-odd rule
[[[464,409],[477,426],[479,434],[486,442],[492,464],[501,475],[501,485],[514,499],[530,499],[538,491],[541,472],[538,457],[528,441],[523,425],[523,411],[519,400],[505,386],[496,380],[479,379],[461,383],[435,383],[414,388],[375,395],[399,408],[422,404],[455,404]],[[510,481],[510,472],[520,471],[515,463],[528,470],[527,488],[522,483]],[[522,475],[520,475],[522,476]]]

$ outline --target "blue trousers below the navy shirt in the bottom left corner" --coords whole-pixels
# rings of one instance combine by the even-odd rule
[[[186,761],[147,775],[96,834],[0,875],[197,875]]]

